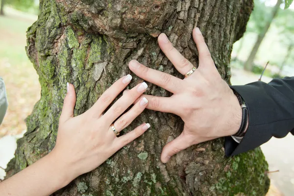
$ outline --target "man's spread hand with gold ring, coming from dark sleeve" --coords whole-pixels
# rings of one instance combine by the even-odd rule
[[[235,134],[242,121],[239,101],[218,73],[199,28],[193,30],[193,38],[199,65],[185,79],[149,69],[136,60],[129,63],[136,75],[173,93],[170,98],[144,95],[149,100],[147,108],[176,114],[185,123],[181,135],[163,148],[163,163],[187,147]],[[158,43],[180,73],[184,75],[192,70],[193,65],[172,46],[165,34],[159,35]]]

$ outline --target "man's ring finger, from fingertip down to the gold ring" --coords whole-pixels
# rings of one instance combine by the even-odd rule
[[[183,75],[188,73],[194,67],[177,49],[172,46],[166,34],[161,33],[158,36],[158,44],[165,55],[170,59],[173,66]]]

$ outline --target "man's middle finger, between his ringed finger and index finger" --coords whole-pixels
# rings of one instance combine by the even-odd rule
[[[147,68],[136,60],[129,62],[129,68],[132,72],[138,75],[140,78],[147,80],[157,86],[160,86],[173,94],[178,93],[182,87],[182,80],[174,77],[168,73],[160,72]]]

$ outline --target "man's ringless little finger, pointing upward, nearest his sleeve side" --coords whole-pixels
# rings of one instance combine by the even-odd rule
[[[205,64],[205,66],[214,67],[213,59],[211,58],[210,51],[205,43],[203,35],[198,27],[193,29],[193,39],[196,43],[199,53],[199,64]],[[200,67],[199,67],[200,68]]]

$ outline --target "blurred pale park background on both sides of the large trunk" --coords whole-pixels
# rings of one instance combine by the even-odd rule
[[[234,44],[231,83],[294,76],[294,4],[254,0],[254,11],[242,39]],[[16,140],[25,133],[25,118],[40,98],[38,75],[25,53],[27,27],[38,18],[39,0],[0,0],[0,77],[5,81],[8,111],[0,125],[0,167],[13,158]],[[271,178],[267,196],[294,195],[294,136],[272,138],[262,145]],[[0,168],[0,179],[5,172]]]

